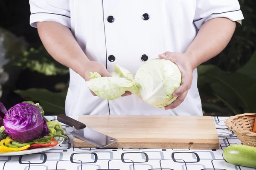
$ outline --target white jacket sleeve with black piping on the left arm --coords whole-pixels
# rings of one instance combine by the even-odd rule
[[[36,22],[55,21],[70,28],[69,0],[29,0],[30,25],[37,28]]]

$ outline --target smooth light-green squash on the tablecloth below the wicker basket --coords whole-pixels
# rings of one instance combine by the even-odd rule
[[[256,168],[256,147],[232,144],[224,149],[223,158],[231,164]]]

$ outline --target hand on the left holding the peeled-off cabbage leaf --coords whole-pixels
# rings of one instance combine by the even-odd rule
[[[106,67],[100,63],[100,62],[96,62],[96,61],[89,61],[87,62],[87,64],[85,65],[85,74],[84,74],[84,79],[85,81],[89,81],[91,78],[88,77],[88,75],[90,74],[90,72],[97,72],[99,73],[102,77],[112,77],[112,75],[108,72],[108,70],[106,69]],[[89,89],[90,90],[90,89]],[[93,91],[91,91],[91,94],[93,94],[93,96],[96,96],[95,93],[93,93]],[[129,96],[131,95],[130,91],[125,91],[125,93],[122,96]]]

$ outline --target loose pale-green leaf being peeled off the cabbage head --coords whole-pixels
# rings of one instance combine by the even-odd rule
[[[132,74],[118,65],[113,65],[114,71],[111,73],[112,77],[101,77],[97,72],[90,72],[89,81],[86,82],[88,88],[102,99],[113,100],[117,99],[125,93],[137,92],[137,87],[134,84]]]

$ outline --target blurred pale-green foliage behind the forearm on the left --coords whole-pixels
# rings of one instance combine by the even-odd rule
[[[21,56],[13,56],[11,62],[23,69],[28,68],[47,76],[69,73],[69,68],[53,59],[44,46],[38,49],[30,48],[29,51],[23,52]]]

